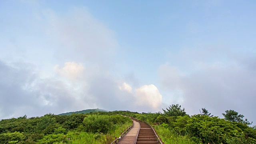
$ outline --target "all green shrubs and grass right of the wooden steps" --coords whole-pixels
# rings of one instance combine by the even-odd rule
[[[172,111],[172,105],[169,107]],[[180,108],[175,106],[174,108]],[[181,109],[180,109],[181,110]],[[240,122],[230,122],[212,116],[207,110],[205,113],[194,116],[169,116],[159,114],[151,124],[166,144],[256,144],[256,130]],[[140,120],[150,120],[149,114],[135,114]],[[152,114],[154,116],[154,114]],[[155,114],[156,116],[156,114]],[[148,121],[149,122],[149,121]]]

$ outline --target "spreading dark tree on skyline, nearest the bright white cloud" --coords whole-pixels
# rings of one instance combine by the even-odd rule
[[[169,106],[169,109],[166,108],[166,110],[162,109],[164,111],[164,114],[167,116],[186,116],[185,109],[181,109],[181,106],[179,104],[172,104],[172,106]]]

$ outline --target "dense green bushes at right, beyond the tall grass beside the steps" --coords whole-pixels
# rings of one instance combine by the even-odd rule
[[[195,142],[202,143],[255,143],[254,130],[245,124],[239,126],[244,128],[244,132],[237,123],[226,121],[218,117],[207,115],[176,116],[168,117],[170,127],[177,134],[190,136]],[[166,127],[166,126],[165,126]],[[247,130],[247,135],[246,134]],[[240,140],[240,141],[239,141]]]

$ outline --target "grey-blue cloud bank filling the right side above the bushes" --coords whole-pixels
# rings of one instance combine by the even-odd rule
[[[231,109],[255,120],[251,113],[256,109],[254,57],[227,49],[180,50],[159,67],[161,88],[169,91],[171,101],[182,104],[188,114],[206,108],[222,118],[222,113]]]

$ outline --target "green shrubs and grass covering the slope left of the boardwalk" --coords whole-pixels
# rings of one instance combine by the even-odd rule
[[[79,137],[85,135],[93,138],[93,142],[96,144],[107,144],[115,136],[119,137],[120,132],[132,124],[130,118],[120,116],[118,113],[119,111],[96,112],[69,116],[50,113],[42,117],[27,118],[25,115],[19,118],[0,120],[0,144],[91,143],[92,139],[85,141],[84,137]],[[120,113],[134,114],[128,111],[120,111]],[[91,124],[98,126],[98,133],[86,131],[86,126],[84,126],[84,118],[92,116],[96,119]],[[73,136],[74,139],[70,139],[71,137],[68,139],[67,136]]]

